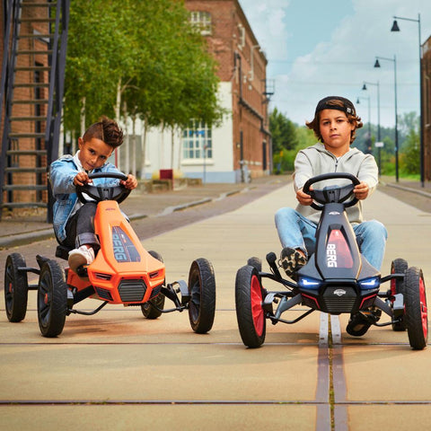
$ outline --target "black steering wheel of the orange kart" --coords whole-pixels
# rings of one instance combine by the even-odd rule
[[[88,178],[90,180],[94,180],[96,178],[117,178],[119,180],[128,180],[128,176],[121,172],[90,173]],[[84,197],[84,193],[90,198],[93,198],[96,202],[101,202],[102,200],[116,200],[120,203],[128,197],[131,191],[131,189],[126,189],[122,184],[119,184],[118,186],[93,186],[92,184],[76,186],[76,195],[83,204],[89,202],[89,200]]]

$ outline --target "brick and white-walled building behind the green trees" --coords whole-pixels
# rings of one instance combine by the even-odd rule
[[[243,182],[267,175],[272,169],[267,58],[237,0],[186,0],[185,5],[219,64],[218,97],[229,115],[219,128],[190,119],[190,127],[180,132],[149,131],[145,151],[136,151],[144,135],[136,122],[135,145],[129,136],[128,146],[120,149],[120,167],[133,172],[134,164],[145,178],[174,169],[206,182]],[[128,131],[131,128],[128,125]]]

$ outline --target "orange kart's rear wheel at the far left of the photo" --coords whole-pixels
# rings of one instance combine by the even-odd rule
[[[22,254],[10,254],[4,268],[4,304],[9,321],[22,321],[27,312],[29,283],[27,272],[20,271],[19,267],[25,267]]]

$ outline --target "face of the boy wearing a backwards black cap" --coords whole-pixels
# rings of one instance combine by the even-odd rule
[[[341,110],[321,110],[319,126],[325,148],[337,156],[347,153],[355,126]]]

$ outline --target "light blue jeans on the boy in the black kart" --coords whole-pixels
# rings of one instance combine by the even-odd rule
[[[310,256],[315,249],[317,224],[299,214],[295,209],[285,207],[276,213],[276,226],[281,245],[301,249]],[[365,259],[380,270],[388,233],[384,225],[370,220],[353,226],[356,242]]]

